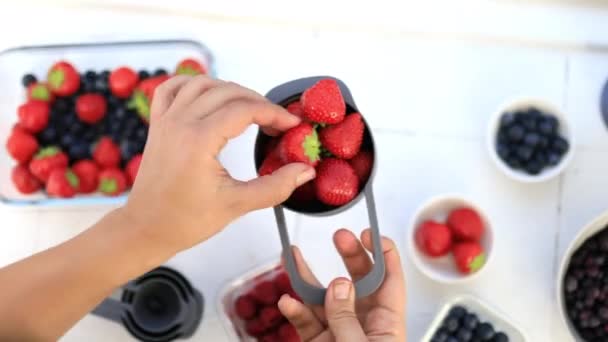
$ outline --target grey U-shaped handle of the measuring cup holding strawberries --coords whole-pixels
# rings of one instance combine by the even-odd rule
[[[372,270],[366,274],[365,277],[355,282],[355,293],[357,298],[366,297],[376,291],[382,284],[382,281],[384,281],[384,275],[386,272],[384,253],[382,252],[382,244],[380,240],[380,231],[378,229],[376,204],[374,201],[374,193],[371,183],[364,190],[364,194],[372,233],[372,245],[374,247],[374,265]],[[311,285],[302,279],[302,276],[300,275],[300,272],[298,272],[298,268],[296,266],[293,250],[291,249],[291,242],[289,241],[289,232],[287,231],[283,207],[274,207],[274,214],[277,221],[277,226],[279,228],[281,244],[283,246],[285,268],[287,269],[287,273],[289,273],[289,279],[291,280],[293,289],[305,303],[322,305],[325,303],[325,293],[327,292],[327,289]]]

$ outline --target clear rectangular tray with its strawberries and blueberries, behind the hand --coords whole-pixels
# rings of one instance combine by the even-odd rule
[[[205,69],[206,73],[215,75],[211,51],[192,40],[29,46],[1,52],[0,87],[3,89],[3,96],[0,97],[0,140],[4,148],[0,152],[0,203],[36,207],[123,203],[132,180],[127,165],[143,151],[147,137],[147,124],[142,119],[145,116],[147,98],[144,101],[141,98],[135,101],[136,90],[143,94],[153,93],[153,90],[146,90],[152,89],[151,82],[148,82],[146,88],[142,83],[144,79],[156,79],[156,76],[171,75],[178,70],[180,73],[193,74],[196,71],[193,68],[196,69],[196,66],[188,63],[178,66],[178,63],[186,59],[198,62],[198,66]],[[53,70],[61,69],[57,67],[60,61],[67,61],[73,69],[68,72],[55,72],[51,76],[52,67]],[[122,66],[129,67],[133,72],[113,78],[113,71]],[[75,82],[76,75],[79,77],[79,85],[71,86],[70,82]],[[114,88],[112,82],[115,82]],[[127,82],[127,85],[122,85],[122,89],[126,87],[127,93],[121,94],[124,90],[120,90],[120,82]],[[28,88],[26,84],[35,86]],[[56,89],[50,92],[54,94],[49,97],[47,95],[51,84],[55,84]],[[77,90],[74,92],[73,89]],[[89,96],[82,103],[78,101],[79,97],[85,94],[96,95]],[[104,101],[100,101],[100,98]],[[26,102],[37,101],[48,104],[48,123],[38,120],[43,116],[41,112],[45,111],[44,106],[28,105],[27,109],[23,110],[26,119],[18,115],[20,106]],[[103,116],[100,115],[100,108],[104,108],[104,105],[100,102],[105,102]],[[81,107],[77,106],[79,103]],[[90,122],[86,122],[83,115]],[[33,121],[29,122],[31,127],[27,127],[25,133],[35,140],[20,135],[19,139],[12,141],[13,150],[9,152],[7,144],[14,133],[15,125],[19,123],[20,128],[23,128],[22,120],[29,119]],[[105,139],[104,144],[98,144],[103,137],[109,139]],[[113,144],[108,144],[109,141]],[[91,171],[95,169],[93,163],[82,166],[79,172],[56,172],[58,175],[53,177],[50,177],[48,170],[46,173],[41,171],[40,175],[44,174],[42,178],[49,177],[42,180],[39,179],[40,175],[34,176],[31,171],[29,164],[36,156],[48,157],[58,154],[56,149],[45,149],[39,154],[45,147],[56,146],[64,156],[55,157],[54,161],[39,163],[38,171],[55,165],[55,162],[70,169],[83,159],[98,162],[94,158],[94,150],[102,149],[99,145],[106,145],[104,148],[112,152],[109,154],[113,154],[113,158],[109,158],[108,165],[118,170],[105,173],[103,178],[99,174],[109,167],[103,162],[103,165],[97,163],[97,172]],[[108,146],[110,148],[107,148]],[[33,151],[36,152],[32,153]],[[22,160],[15,158],[15,153],[19,154]],[[107,151],[99,153],[108,154]],[[68,159],[68,165],[65,165],[65,159]],[[116,159],[120,161],[116,162]],[[13,171],[17,164],[23,165],[18,175]],[[80,181],[79,178],[85,178],[82,177],[83,173],[87,179]],[[96,173],[97,177],[93,176]],[[73,177],[75,174],[81,176],[77,177],[78,182]],[[18,181],[15,181],[15,178],[18,178]],[[51,178],[52,186],[48,185]],[[17,188],[18,182],[21,189]],[[97,191],[101,190],[101,182],[104,182],[103,193]],[[89,189],[84,189],[86,187]]]

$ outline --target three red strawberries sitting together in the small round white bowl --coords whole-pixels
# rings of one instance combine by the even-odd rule
[[[480,243],[484,233],[483,220],[475,210],[458,208],[450,212],[446,223],[422,222],[414,239],[418,249],[430,258],[446,256],[451,251],[458,270],[470,274],[485,263],[486,254]]]

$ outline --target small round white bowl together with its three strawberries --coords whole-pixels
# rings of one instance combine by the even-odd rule
[[[493,238],[483,210],[460,196],[444,195],[414,214],[407,245],[423,274],[449,284],[471,280],[487,267]]]

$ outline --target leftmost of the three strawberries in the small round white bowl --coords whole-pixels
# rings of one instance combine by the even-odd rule
[[[435,258],[448,254],[452,247],[452,232],[435,221],[425,221],[415,234],[416,245],[429,257]]]

